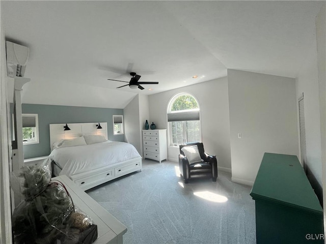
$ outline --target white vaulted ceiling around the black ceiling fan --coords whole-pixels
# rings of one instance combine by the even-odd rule
[[[23,103],[124,108],[137,93],[224,77],[227,69],[296,77],[322,2],[1,4],[6,39],[30,48]],[[106,80],[129,81],[131,71],[159,84],[116,89],[125,83]]]

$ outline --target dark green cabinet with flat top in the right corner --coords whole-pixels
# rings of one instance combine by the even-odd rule
[[[257,244],[324,243],[323,210],[296,156],[265,153],[250,195]]]

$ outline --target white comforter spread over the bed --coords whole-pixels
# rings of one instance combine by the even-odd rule
[[[49,155],[62,168],[59,175],[67,176],[139,157],[133,145],[120,141],[62,147],[53,149]]]

